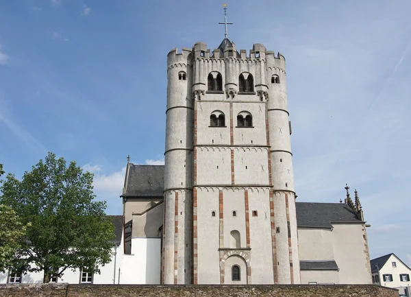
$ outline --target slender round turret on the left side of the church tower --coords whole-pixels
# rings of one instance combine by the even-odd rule
[[[192,52],[167,56],[162,283],[190,283],[192,262]]]

